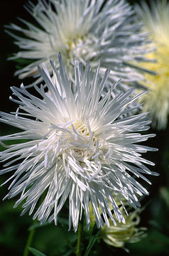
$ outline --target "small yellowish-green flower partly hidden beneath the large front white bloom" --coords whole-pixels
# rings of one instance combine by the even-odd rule
[[[114,200],[116,201],[117,206],[120,208],[121,213],[124,213],[124,208],[121,206],[121,195],[115,196]],[[128,251],[124,246],[126,243],[130,242],[138,242],[142,238],[146,237],[146,228],[138,228],[137,226],[140,223],[140,216],[142,209],[138,208],[136,210],[131,211],[131,206],[129,206],[128,201],[123,200],[124,206],[128,211],[128,215],[125,217],[126,223],[117,222],[116,225],[109,220],[110,226],[104,225],[99,233],[99,238],[102,238],[104,242],[108,245],[114,247],[123,247],[124,250]],[[109,205],[111,208],[111,205]],[[112,210],[112,208],[111,208]],[[102,213],[102,209],[99,208],[99,212]],[[92,204],[89,203],[89,215],[91,219],[92,227],[95,225],[96,220],[94,217],[94,212],[92,210]],[[113,214],[114,215],[114,214]],[[116,216],[114,215],[114,219]]]

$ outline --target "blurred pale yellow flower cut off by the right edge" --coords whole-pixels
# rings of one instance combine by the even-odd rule
[[[147,82],[143,82],[149,89],[144,95],[143,111],[150,111],[153,127],[165,129],[169,113],[169,4],[166,1],[151,1],[151,9],[143,2],[143,8],[136,6],[138,15],[144,22],[145,31],[149,31],[150,38],[156,51],[145,55],[156,60],[154,63],[142,63],[141,67],[152,70],[156,75],[145,74]]]

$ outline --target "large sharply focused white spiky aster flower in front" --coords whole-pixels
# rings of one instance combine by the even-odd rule
[[[16,113],[1,112],[1,122],[18,127],[23,132],[0,137],[0,141],[29,139],[13,144],[1,152],[1,161],[7,161],[1,174],[11,171],[13,179],[6,198],[21,194],[16,205],[23,203],[23,213],[30,210],[41,223],[55,220],[65,201],[69,202],[69,223],[77,230],[84,210],[89,228],[89,202],[92,204],[98,227],[108,218],[124,223],[124,216],[114,199],[119,193],[131,206],[140,206],[137,195],[148,194],[136,177],[145,181],[144,174],[156,175],[145,164],[153,163],[141,153],[156,150],[139,145],[154,134],[141,135],[148,129],[146,114],[117,119],[140,95],[132,97],[133,89],[112,98],[107,92],[101,97],[107,83],[108,71],[99,80],[99,67],[90,78],[90,66],[85,70],[75,62],[75,91],[67,79],[62,60],[60,74],[51,62],[54,80],[47,68],[41,70],[48,91],[35,85],[40,98],[31,95],[23,85],[12,87],[12,100],[19,104]],[[6,181],[7,182],[7,181]],[[149,181],[148,181],[149,183]],[[37,203],[46,191],[43,203]],[[121,202],[122,203],[122,202]],[[123,203],[122,203],[123,205]],[[35,208],[36,207],[36,208]],[[102,209],[102,214],[99,211]],[[36,212],[35,212],[36,211]]]

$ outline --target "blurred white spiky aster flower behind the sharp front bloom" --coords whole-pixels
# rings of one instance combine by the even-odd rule
[[[70,80],[74,80],[75,60],[84,65],[90,60],[95,70],[100,58],[103,58],[100,75],[110,68],[109,78],[113,81],[122,78],[120,85],[124,90],[127,82],[144,80],[143,70],[134,66],[150,51],[149,40],[126,1],[39,0],[37,5],[30,3],[27,9],[37,24],[21,20],[25,28],[7,26],[21,33],[16,36],[9,32],[21,48],[13,59],[32,60],[30,65],[16,71],[19,78],[39,77],[37,65],[43,62],[51,74],[53,69],[48,60],[55,61],[61,53]]]

